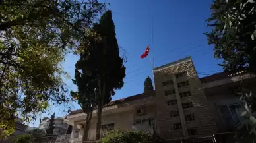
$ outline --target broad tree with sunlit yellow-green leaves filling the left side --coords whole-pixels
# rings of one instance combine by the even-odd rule
[[[69,49],[78,50],[104,6],[96,0],[0,2],[1,136],[14,131],[16,113],[32,121],[48,101],[70,101],[60,64]]]

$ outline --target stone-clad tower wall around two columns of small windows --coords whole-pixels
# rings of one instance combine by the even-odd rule
[[[178,76],[183,72],[185,76]],[[172,80],[172,84],[163,86],[163,82]],[[190,57],[154,69],[156,87],[156,113],[158,132],[164,138],[187,138],[188,129],[196,129],[197,135],[206,136],[216,131],[214,121],[210,115],[203,86],[197,76]],[[188,86],[178,87],[181,82],[188,82]],[[183,84],[185,85],[185,84]],[[175,93],[166,96],[165,90],[174,90]],[[183,97],[179,93],[190,92],[191,96]],[[177,104],[168,105],[170,100],[177,100]],[[193,107],[183,109],[182,104],[192,102]],[[171,117],[171,111],[179,111],[179,116]],[[185,115],[194,114],[195,121],[185,121]],[[181,123],[182,129],[174,129],[174,124]],[[195,137],[193,136],[193,137]]]

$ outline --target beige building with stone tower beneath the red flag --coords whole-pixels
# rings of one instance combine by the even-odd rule
[[[152,128],[166,140],[201,138],[218,132],[230,132],[241,121],[234,87],[255,86],[255,75],[246,72],[222,72],[199,78],[191,57],[153,69],[155,90],[111,101],[102,111],[102,134],[106,130]],[[65,117],[73,126],[71,140],[82,140],[86,115],[79,109]],[[93,111],[89,140],[96,137],[96,109]]]

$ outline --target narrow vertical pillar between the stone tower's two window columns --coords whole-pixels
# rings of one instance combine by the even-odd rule
[[[184,112],[183,112],[181,98],[179,96],[179,88],[177,87],[177,80],[176,80],[175,74],[172,75],[172,81],[174,82],[175,96],[176,96],[176,100],[177,100],[177,107],[179,109],[179,117],[180,117],[180,120],[181,120],[183,134],[184,134],[184,137],[187,138],[188,137],[187,124],[185,122],[185,115],[184,115]]]

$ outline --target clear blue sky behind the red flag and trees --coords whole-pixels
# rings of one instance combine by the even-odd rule
[[[150,45],[154,67],[191,56],[199,73],[212,74],[222,69],[217,65],[221,60],[214,59],[213,47],[207,45],[207,38],[203,34],[209,30],[205,20],[211,14],[211,0],[152,0],[153,11],[151,0],[106,0],[106,2],[110,3],[108,9],[112,10],[119,47],[125,49],[128,58],[125,63],[127,67],[125,85],[121,90],[116,91],[113,100],[142,93],[144,79],[147,76],[153,78],[150,57],[140,58],[147,45]],[[78,58],[67,55],[63,63],[71,79]],[[199,77],[205,76],[202,74],[199,74]],[[76,90],[71,79],[65,82],[71,90]],[[77,103],[58,105],[51,107],[41,117],[49,116],[53,112],[62,117],[66,115],[63,109],[67,110],[68,107],[73,110],[80,108]],[[36,120],[30,126],[38,127],[38,123],[39,121]]]

